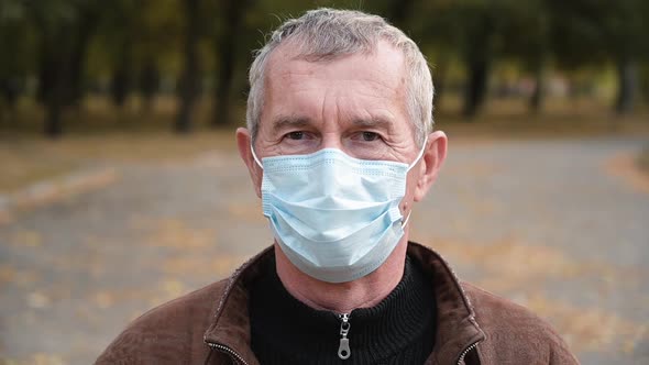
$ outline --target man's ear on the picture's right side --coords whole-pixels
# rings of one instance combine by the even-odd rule
[[[419,178],[413,197],[415,201],[421,201],[437,180],[439,170],[447,158],[447,145],[448,139],[444,132],[436,131],[428,135],[426,150],[419,165]]]

